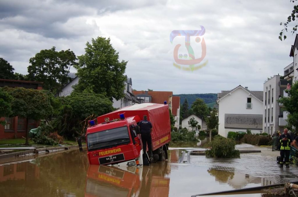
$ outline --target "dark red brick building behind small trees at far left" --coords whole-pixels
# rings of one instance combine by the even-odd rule
[[[41,82],[20,81],[11,79],[0,79],[0,87],[24,87],[42,90]],[[0,139],[2,138],[21,138],[26,136],[26,127],[33,129],[38,126],[38,122],[29,120],[26,125],[26,118],[19,117],[0,117],[1,121],[6,121],[6,125],[0,125]]]

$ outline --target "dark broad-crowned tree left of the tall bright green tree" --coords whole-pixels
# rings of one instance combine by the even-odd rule
[[[70,78],[68,76],[71,66],[76,65],[76,56],[70,49],[56,51],[44,49],[30,58],[28,66],[28,79],[43,82],[43,88],[53,94],[59,93]]]

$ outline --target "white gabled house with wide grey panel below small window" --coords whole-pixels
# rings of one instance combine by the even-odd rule
[[[241,85],[217,94],[218,134],[227,137],[229,131],[260,133],[263,128],[263,91],[250,91]]]

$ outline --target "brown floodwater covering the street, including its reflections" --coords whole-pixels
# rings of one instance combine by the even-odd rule
[[[274,158],[263,162],[260,154],[226,160],[188,156],[181,162],[182,152],[169,150],[168,161],[141,168],[89,165],[86,151],[77,150],[0,163],[0,196],[191,196],[297,178],[296,168],[280,170]]]

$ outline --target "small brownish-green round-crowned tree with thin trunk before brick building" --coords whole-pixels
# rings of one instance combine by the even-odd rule
[[[53,107],[51,106],[50,99],[44,91],[40,90],[26,89],[23,87],[4,87],[3,89],[13,97],[11,116],[27,118],[26,145],[29,145],[28,120],[41,120],[51,114]]]

